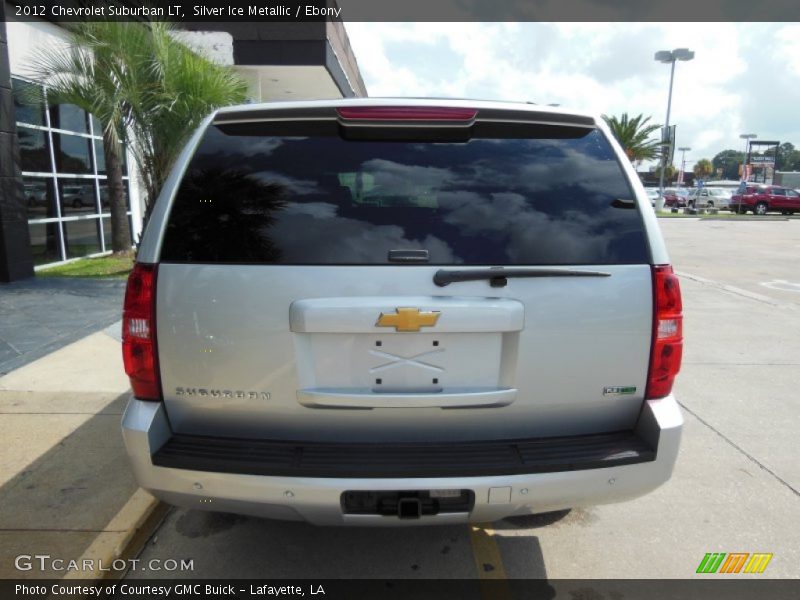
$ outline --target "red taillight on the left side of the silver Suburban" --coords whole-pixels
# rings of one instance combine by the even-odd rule
[[[136,263],[125,289],[122,311],[122,361],[140,400],[161,400],[156,350],[156,265]]]

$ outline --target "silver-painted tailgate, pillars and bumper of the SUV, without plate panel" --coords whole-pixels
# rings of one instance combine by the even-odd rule
[[[575,114],[561,108],[500,102],[424,99],[357,99],[270,103],[229,107],[216,114],[254,108],[312,106],[469,106]],[[139,247],[138,260],[158,262],[173,197],[210,115],[187,143],[154,207]],[[608,131],[623,171],[631,181],[641,211],[653,264],[669,257],[655,214],[630,161]],[[158,315],[161,375],[165,403],[132,398],[123,417],[123,435],[140,485],[172,504],[231,511],[318,524],[417,525],[492,521],[513,514],[543,512],[585,504],[615,502],[655,489],[672,471],[682,427],[672,396],[642,402],[641,392],[604,397],[607,386],[644,390],[652,322],[650,270],[612,266],[612,277],[600,280],[514,280],[505,288],[485,281],[453,284],[443,290],[432,283],[434,267],[287,267],[170,265],[159,267]],[[499,347],[498,389],[518,390],[513,403],[499,408],[380,408],[320,410],[298,402],[303,366],[315,365],[304,353],[309,339],[290,316],[294,303],[385,298],[408,306],[413,297],[435,302],[514,302],[522,306],[524,329],[495,326]],[[457,295],[457,296],[456,296]],[[347,335],[347,332],[340,332]],[[461,331],[445,335],[469,335]],[[321,333],[320,335],[327,335]],[[350,332],[343,352],[355,344]],[[419,335],[381,332],[387,335]],[[429,335],[429,333],[426,333]],[[476,357],[484,359],[485,357]],[[176,387],[264,390],[269,400],[179,397]],[[352,390],[351,390],[352,392]],[[167,416],[169,412],[169,417]],[[151,454],[173,431],[209,435],[247,435],[276,439],[368,441],[387,439],[464,440],[535,435],[582,434],[636,427],[657,445],[657,460],[612,469],[530,476],[337,480],[259,477],[200,473],[154,467]],[[467,514],[400,521],[392,517],[345,516],[339,497],[344,490],[461,489],[476,493]],[[511,487],[507,504],[490,504],[491,488]],[[522,494],[521,490],[528,490]],[[291,492],[288,495],[287,492]]]

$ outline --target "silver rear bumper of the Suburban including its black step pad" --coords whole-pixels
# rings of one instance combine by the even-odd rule
[[[494,521],[636,498],[669,479],[682,426],[677,402],[668,396],[645,402],[632,432],[560,438],[554,444],[485,442],[449,451],[432,446],[421,453],[419,446],[376,445],[368,454],[362,448],[360,458],[353,458],[352,446],[304,445],[311,458],[315,452],[333,458],[327,464],[338,466],[331,470],[325,461],[299,460],[297,454],[288,462],[281,458],[296,445],[250,442],[244,448],[233,440],[176,436],[160,403],[132,398],[122,421],[139,485],[157,498],[187,508],[319,525]],[[413,470],[407,466],[409,451],[418,453]],[[220,459],[223,454],[231,458]],[[365,465],[368,455],[373,458]],[[345,514],[342,508],[345,491],[397,490],[469,490],[474,506],[416,519]]]

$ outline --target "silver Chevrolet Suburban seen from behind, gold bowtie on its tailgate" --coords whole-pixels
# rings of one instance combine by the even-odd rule
[[[678,280],[602,119],[529,104],[219,110],[130,276],[123,434],[175,505],[492,521],[670,477]]]

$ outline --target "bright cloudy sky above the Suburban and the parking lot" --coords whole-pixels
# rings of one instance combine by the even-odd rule
[[[686,169],[743,133],[800,147],[800,23],[345,23],[371,97],[558,103],[670,124]],[[674,164],[680,167],[680,152]],[[643,167],[647,167],[645,164]]]

